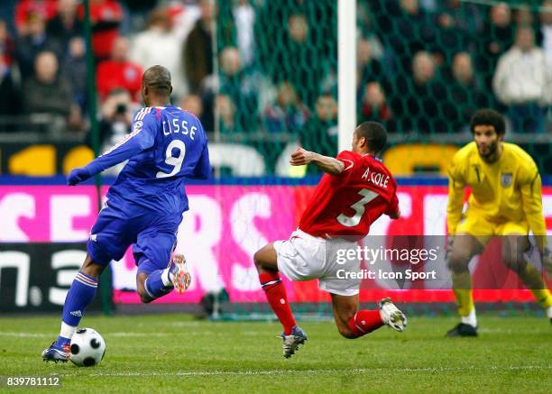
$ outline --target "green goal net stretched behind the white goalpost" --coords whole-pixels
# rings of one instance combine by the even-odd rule
[[[334,156],[338,146],[349,146],[352,130],[340,130],[338,122],[342,100],[353,101],[355,124],[376,121],[389,131],[382,158],[399,179],[404,218],[374,225],[375,234],[446,234],[446,167],[471,141],[469,120],[478,108],[507,116],[506,139],[529,151],[549,185],[552,129],[545,86],[550,87],[546,26],[549,30],[551,18],[541,5],[358,0],[348,16],[355,33],[347,37],[340,35],[347,26],[338,23],[336,0],[218,2],[217,72],[209,94],[212,160],[220,182],[213,197],[222,209],[215,228],[222,241],[210,249],[210,267],[218,270],[212,293],[225,289],[225,310],[245,316],[266,310],[253,252],[290,235],[320,177],[315,166],[290,167],[290,152],[300,145]],[[339,68],[345,63],[339,63],[338,50],[351,40],[353,58],[342,61],[355,64],[348,76],[354,84],[343,93]],[[506,58],[520,45],[538,56],[521,75],[511,75],[505,68],[516,66],[507,66]],[[542,88],[535,86],[533,96],[516,88],[524,78],[538,78]],[[545,187],[543,197],[547,224],[552,224],[552,189]],[[194,206],[190,215],[211,215],[207,206]],[[200,266],[205,256],[198,252],[190,263]],[[198,276],[198,286],[209,272]],[[474,275],[485,273],[474,270]],[[299,314],[328,313],[327,294],[316,281],[287,286]],[[373,284],[361,299],[372,301],[388,289],[393,289],[389,283]],[[454,299],[450,291],[413,289],[424,284],[395,287],[395,297]],[[526,295],[511,289],[493,299],[524,300]]]

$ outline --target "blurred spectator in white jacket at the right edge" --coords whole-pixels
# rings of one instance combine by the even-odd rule
[[[515,44],[504,53],[492,80],[494,94],[508,106],[514,132],[544,133],[547,106],[552,105],[552,69],[535,46],[530,26],[520,26]]]

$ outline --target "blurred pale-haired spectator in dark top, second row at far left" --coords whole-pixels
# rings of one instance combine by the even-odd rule
[[[58,60],[51,51],[39,53],[35,75],[23,87],[23,106],[30,115],[47,114],[63,127],[69,118],[72,100],[69,82],[58,76]]]

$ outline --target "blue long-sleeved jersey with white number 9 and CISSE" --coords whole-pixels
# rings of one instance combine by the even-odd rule
[[[127,134],[87,165],[90,174],[128,159],[107,193],[108,200],[164,214],[188,210],[185,178],[210,175],[207,135],[195,115],[178,106],[145,107]]]

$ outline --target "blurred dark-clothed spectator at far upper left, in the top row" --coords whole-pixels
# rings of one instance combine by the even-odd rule
[[[49,40],[46,34],[46,25],[41,14],[28,14],[26,34],[20,36],[15,45],[15,56],[23,80],[32,76],[34,59],[41,51],[53,52],[60,57],[62,49],[56,41]]]

